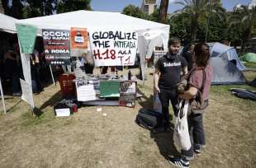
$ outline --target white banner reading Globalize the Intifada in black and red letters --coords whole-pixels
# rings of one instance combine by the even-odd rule
[[[134,65],[138,35],[128,30],[93,30],[90,33],[95,66]]]

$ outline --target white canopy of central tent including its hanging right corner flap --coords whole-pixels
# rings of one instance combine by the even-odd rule
[[[37,26],[38,34],[41,34],[42,29],[70,30],[71,27],[87,28],[89,33],[93,29],[135,30],[139,36],[145,37],[147,58],[152,55],[154,46],[164,45],[164,49],[168,49],[168,25],[126,16],[119,12],[67,12],[18,20],[17,23]]]

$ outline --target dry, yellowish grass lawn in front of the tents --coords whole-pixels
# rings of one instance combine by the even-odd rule
[[[153,69],[147,69],[145,84],[138,82],[143,97],[135,108],[100,106],[97,112],[99,106],[83,106],[70,117],[56,118],[59,83],[34,96],[40,116],[32,116],[19,97],[7,99],[8,112],[0,115],[0,167],[173,167],[168,156],[179,155],[173,132],[153,134],[135,124],[138,110],[152,107],[150,72]],[[251,80],[255,73],[244,75]],[[232,87],[255,90],[245,85],[211,86],[204,115],[206,149],[191,167],[256,167],[256,101],[231,95]]]

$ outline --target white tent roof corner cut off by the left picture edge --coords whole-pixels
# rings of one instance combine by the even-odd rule
[[[17,19],[0,13],[0,30],[7,31],[9,33],[15,33],[15,21],[17,21]]]

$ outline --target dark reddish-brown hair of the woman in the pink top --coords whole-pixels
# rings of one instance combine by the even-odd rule
[[[206,67],[210,59],[209,45],[206,43],[198,43],[194,47],[195,63],[198,67]]]

